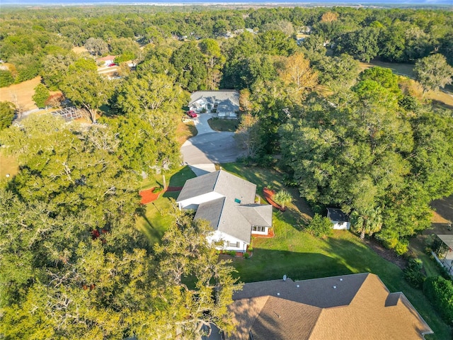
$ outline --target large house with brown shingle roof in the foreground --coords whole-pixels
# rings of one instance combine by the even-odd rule
[[[424,339],[432,329],[403,293],[372,273],[246,283],[229,306],[226,340]],[[220,336],[213,331],[209,339]],[[223,336],[223,334],[222,334]]]

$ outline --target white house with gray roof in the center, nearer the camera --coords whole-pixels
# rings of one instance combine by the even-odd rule
[[[244,252],[251,235],[267,235],[272,228],[272,205],[255,203],[256,185],[219,170],[185,182],[176,202],[194,209],[195,220],[210,222],[208,240],[217,249]]]

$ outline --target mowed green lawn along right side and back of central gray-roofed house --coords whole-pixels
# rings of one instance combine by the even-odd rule
[[[273,183],[281,188],[282,174],[269,169],[247,168],[241,164],[222,164],[222,167],[258,188]],[[338,276],[350,273],[374,273],[391,292],[403,292],[420,312],[435,334],[426,339],[451,339],[452,330],[442,322],[421,290],[411,288],[398,266],[376,254],[358,237],[347,231],[334,231],[332,237],[316,239],[304,232],[311,212],[302,198],[294,196],[287,212],[274,212],[273,239],[253,239],[253,256],[232,258],[242,282],[273,280],[286,274],[294,280]],[[302,213],[306,215],[302,215]],[[428,268],[435,273],[434,268]]]

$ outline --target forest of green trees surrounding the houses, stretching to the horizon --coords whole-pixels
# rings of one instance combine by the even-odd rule
[[[176,125],[190,93],[237,89],[246,165],[275,167],[314,212],[405,254],[453,194],[453,114],[426,98],[452,83],[453,12],[348,7],[2,8],[0,87],[42,78],[89,125],[32,115],[2,152],[1,334],[5,339],[197,339],[231,331],[234,268],[209,227],[177,208],[161,244],[135,228],[142,174],[180,166]],[[86,52],[74,52],[84,47]],[[118,76],[98,74],[115,55]],[[136,64],[131,69],[130,61]],[[360,62],[414,65],[415,80]],[[419,85],[419,86],[418,86]]]

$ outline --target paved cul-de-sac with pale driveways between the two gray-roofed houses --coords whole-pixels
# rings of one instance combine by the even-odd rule
[[[188,164],[197,176],[215,171],[214,163],[236,162],[243,151],[237,147],[234,132],[217,132],[207,120],[212,113],[201,113],[195,118],[198,134],[181,147],[184,164]]]

